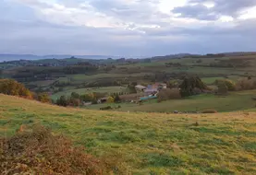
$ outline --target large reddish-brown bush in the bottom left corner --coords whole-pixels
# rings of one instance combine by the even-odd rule
[[[104,163],[42,126],[0,140],[3,174],[109,174]]]

